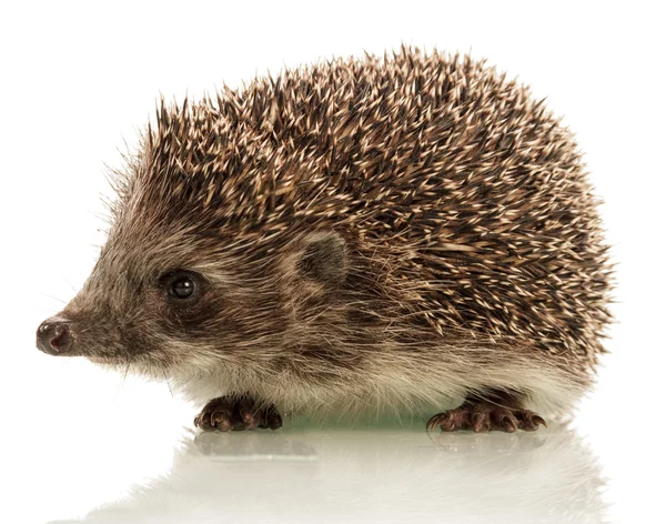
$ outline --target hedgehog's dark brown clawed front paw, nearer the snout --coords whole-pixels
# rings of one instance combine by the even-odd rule
[[[210,401],[194,417],[194,425],[203,431],[278,430],[282,417],[273,404],[260,404],[242,393]]]

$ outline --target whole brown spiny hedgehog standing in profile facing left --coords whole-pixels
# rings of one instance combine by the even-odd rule
[[[599,200],[517,79],[402,47],[157,108],[44,353],[165,380],[203,431],[306,413],[534,431],[594,384]]]

